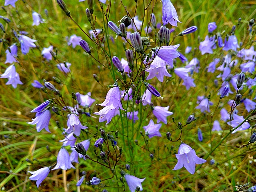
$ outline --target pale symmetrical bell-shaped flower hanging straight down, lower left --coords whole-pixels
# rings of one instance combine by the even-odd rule
[[[62,147],[57,156],[57,164],[52,170],[63,169],[67,170],[75,167],[71,164],[70,156],[66,148]]]

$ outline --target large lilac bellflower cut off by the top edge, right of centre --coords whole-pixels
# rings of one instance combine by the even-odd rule
[[[177,27],[177,23],[181,23],[178,18],[178,14],[170,0],[162,0],[163,8],[163,23],[166,25],[167,23],[170,23],[172,26]]]

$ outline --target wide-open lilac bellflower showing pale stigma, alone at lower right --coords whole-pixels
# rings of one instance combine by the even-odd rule
[[[191,174],[195,173],[196,164],[202,164],[206,162],[206,160],[196,156],[195,149],[192,149],[185,143],[180,145],[178,154],[175,154],[175,156],[178,159],[178,163],[175,165],[173,170],[181,169],[184,166]]]

